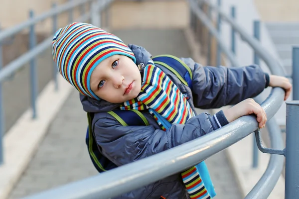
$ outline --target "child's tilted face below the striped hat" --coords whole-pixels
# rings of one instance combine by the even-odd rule
[[[136,98],[140,93],[141,74],[131,58],[113,55],[93,70],[90,87],[99,98],[122,103]]]

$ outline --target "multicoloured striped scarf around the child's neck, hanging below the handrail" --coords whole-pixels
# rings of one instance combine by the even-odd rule
[[[149,109],[149,113],[164,131],[171,124],[185,124],[188,119],[195,116],[184,95],[162,70],[154,66],[152,60],[143,71],[143,84],[139,96],[124,102],[121,109]],[[181,176],[190,199],[211,198],[197,167],[188,169],[181,173]]]

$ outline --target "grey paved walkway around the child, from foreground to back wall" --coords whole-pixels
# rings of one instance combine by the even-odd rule
[[[145,46],[153,55],[160,53],[189,56],[190,52],[180,30],[139,30],[114,32],[126,43]],[[146,36],[147,40],[142,37]],[[171,44],[170,44],[171,43]],[[169,45],[165,45],[169,44]],[[49,127],[27,170],[9,199],[21,198],[46,189],[80,180],[97,172],[85,146],[87,119],[77,92],[71,93]],[[216,199],[240,199],[224,151],[206,160],[218,196]]]

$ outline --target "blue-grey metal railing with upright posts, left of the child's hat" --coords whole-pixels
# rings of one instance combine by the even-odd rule
[[[37,117],[36,115],[36,98],[37,98],[37,73],[36,73],[36,58],[43,53],[47,48],[51,46],[53,34],[58,29],[59,14],[68,12],[68,22],[73,22],[74,9],[80,8],[80,16],[76,18],[76,21],[85,22],[90,20],[95,25],[100,25],[101,10],[106,8],[113,0],[69,0],[69,2],[57,6],[53,4],[53,8],[39,16],[34,16],[33,10],[30,10],[30,19],[5,29],[0,32],[0,164],[3,162],[3,150],[2,150],[2,135],[4,134],[4,107],[2,100],[2,83],[11,75],[16,73],[20,68],[24,67],[25,63],[30,63],[30,92],[31,92],[31,108],[32,119]],[[89,3],[90,10],[86,11],[86,5]],[[107,13],[107,12],[106,12]],[[107,19],[108,15],[106,16]],[[41,43],[36,45],[36,31],[35,25],[45,19],[52,18],[52,33],[51,36],[44,39]],[[65,24],[66,25],[66,24]],[[11,37],[25,29],[29,28],[29,51],[22,54],[20,57],[14,59],[6,66],[2,67],[2,45],[4,39]],[[53,62],[54,63],[54,62]],[[55,89],[58,89],[57,83],[57,67],[53,64],[53,80],[55,81]]]

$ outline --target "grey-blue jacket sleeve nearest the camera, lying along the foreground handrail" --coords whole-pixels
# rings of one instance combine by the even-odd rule
[[[103,155],[117,166],[178,146],[228,123],[222,112],[217,113],[218,119],[216,115],[201,113],[186,124],[173,124],[163,131],[153,125],[123,126],[108,113],[103,114],[94,123],[93,132]]]

